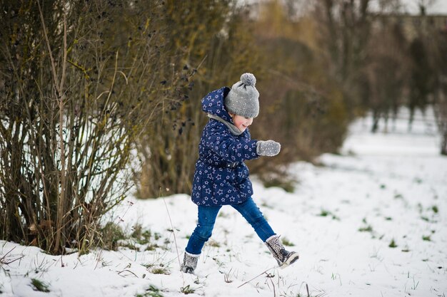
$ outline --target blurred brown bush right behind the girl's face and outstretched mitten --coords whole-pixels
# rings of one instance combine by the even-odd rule
[[[281,154],[274,159],[250,162],[268,184],[289,187],[281,174],[284,165],[335,152],[346,133],[343,88],[328,71],[332,66],[321,51],[319,30],[311,15],[287,14],[280,1],[261,6],[253,24],[264,70],[257,84],[261,112],[251,134],[281,142]]]

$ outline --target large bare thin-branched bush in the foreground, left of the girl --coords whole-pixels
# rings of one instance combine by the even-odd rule
[[[0,234],[89,249],[134,142],[184,100],[164,1],[2,1]]]

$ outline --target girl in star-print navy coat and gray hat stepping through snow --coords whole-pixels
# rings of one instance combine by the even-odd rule
[[[275,156],[281,145],[273,140],[251,140],[248,127],[259,113],[259,93],[251,73],[231,89],[214,90],[202,99],[202,110],[209,123],[199,143],[199,160],[194,173],[192,201],[197,204],[199,219],[189,238],[181,271],[194,273],[201,249],[211,237],[214,222],[223,205],[231,205],[253,226],[281,267],[298,260],[294,251],[286,251],[279,236],[271,229],[253,202],[253,187],[248,167],[243,161],[259,156]]]

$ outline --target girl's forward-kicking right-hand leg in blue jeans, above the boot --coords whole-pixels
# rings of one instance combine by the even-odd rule
[[[248,198],[246,202],[231,206],[240,212],[247,222],[251,224],[254,231],[256,231],[256,234],[258,234],[259,238],[261,238],[263,242],[275,235],[275,232],[271,229],[271,226],[263,217],[261,210],[259,210],[258,206],[253,199],[251,199],[251,197]]]

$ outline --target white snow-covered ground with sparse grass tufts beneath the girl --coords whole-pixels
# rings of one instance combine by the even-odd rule
[[[158,247],[49,256],[0,241],[0,296],[446,296],[447,157],[435,127],[419,119],[407,132],[399,120],[371,135],[370,124],[354,123],[341,155],[321,156],[322,166],[293,165],[293,193],[254,179],[255,201],[300,254],[293,266],[272,268],[251,226],[223,207],[197,276],[183,274],[177,253],[196,224],[189,196],[129,197],[116,222],[150,230]],[[49,292],[34,291],[32,278]]]

